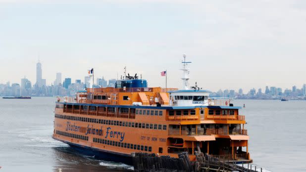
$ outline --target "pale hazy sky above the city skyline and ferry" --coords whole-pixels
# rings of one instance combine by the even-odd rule
[[[191,80],[212,91],[302,87],[306,0],[0,0],[0,83],[35,83],[38,56],[55,73],[84,80],[142,74],[149,86]]]

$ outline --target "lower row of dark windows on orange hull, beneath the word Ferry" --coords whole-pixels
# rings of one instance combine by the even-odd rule
[[[143,146],[143,145],[132,144],[132,143],[122,143],[122,142],[119,142],[119,141],[112,141],[112,140],[106,140],[106,139],[101,139],[101,138],[93,138],[93,142],[106,144],[106,145],[110,145],[110,146],[127,148],[127,149],[134,149],[134,150],[152,152],[152,147],[151,146]]]

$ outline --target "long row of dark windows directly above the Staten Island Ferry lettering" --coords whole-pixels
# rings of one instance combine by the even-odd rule
[[[72,120],[72,121],[81,121],[88,123],[97,123],[111,126],[121,126],[121,127],[132,127],[132,128],[141,128],[141,129],[159,129],[159,130],[167,130],[167,125],[161,124],[148,124],[148,123],[132,123],[125,121],[116,121],[116,120],[103,120],[103,119],[95,119],[95,118],[85,118],[85,117],[74,117],[68,115],[58,115],[55,114],[55,118]]]

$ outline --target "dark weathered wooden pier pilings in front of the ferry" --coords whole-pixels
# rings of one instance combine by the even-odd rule
[[[262,172],[248,164],[239,166],[235,161],[224,161],[216,157],[204,154],[200,148],[195,151],[196,161],[190,161],[188,152],[178,155],[178,158],[170,156],[157,156],[148,153],[132,153],[135,172]]]

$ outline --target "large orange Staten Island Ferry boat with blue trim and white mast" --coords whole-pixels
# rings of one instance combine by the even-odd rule
[[[75,98],[58,99],[52,137],[86,155],[127,164],[132,152],[178,157],[187,151],[195,160],[198,146],[226,161],[251,163],[241,107],[190,88],[185,58],[181,90],[148,87],[146,80],[125,76],[115,87],[87,88]]]

